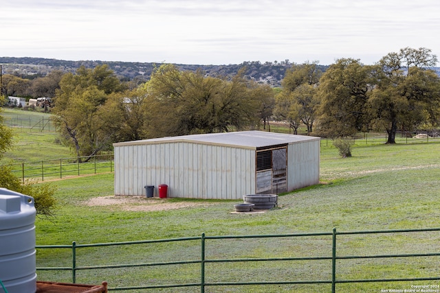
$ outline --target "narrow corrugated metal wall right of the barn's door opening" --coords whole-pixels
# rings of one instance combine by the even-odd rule
[[[287,146],[287,190],[319,183],[320,140]]]

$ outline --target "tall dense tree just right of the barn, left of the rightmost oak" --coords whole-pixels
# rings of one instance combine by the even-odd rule
[[[339,59],[325,71],[318,88],[321,135],[351,137],[368,128],[366,103],[371,82],[371,67],[351,58]]]

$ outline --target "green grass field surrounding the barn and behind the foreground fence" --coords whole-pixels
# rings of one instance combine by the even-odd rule
[[[21,145],[33,135],[20,136]],[[26,143],[25,141],[28,141]],[[44,148],[61,148],[43,139]],[[88,206],[91,198],[113,195],[113,174],[54,181],[58,209],[51,220],[36,220],[36,244],[91,244],[206,235],[255,235],[338,231],[372,231],[440,226],[440,143],[385,145],[372,139],[353,147],[353,157],[341,159],[322,143],[322,184],[278,199],[278,208],[261,214],[231,214],[235,201],[166,199],[167,203],[201,205],[164,211],[125,211],[122,205]],[[47,144],[47,145],[46,145]],[[51,146],[52,145],[52,146]],[[16,156],[17,154],[10,154]],[[7,154],[7,156],[9,156]],[[35,154],[35,156],[37,156]],[[6,158],[7,159],[7,158]],[[137,204],[146,204],[146,198]],[[238,202],[238,201],[237,201]],[[212,240],[207,257],[292,257],[331,255],[325,237],[300,239]],[[439,252],[440,233],[344,235],[338,251],[344,255]],[[72,266],[69,250],[38,250],[37,266]],[[199,242],[140,244],[78,251],[78,266],[139,263],[199,257]],[[357,259],[338,261],[338,278],[393,278],[438,275],[439,257]],[[207,281],[275,281],[329,279],[330,261],[277,261],[209,264]],[[78,283],[109,281],[110,287],[153,283],[197,282],[199,266],[78,271]],[[213,277],[214,276],[214,277]],[[255,279],[255,276],[257,279]],[[39,272],[44,281],[72,281],[69,271]],[[338,284],[336,292],[408,290],[411,285],[439,281]],[[198,292],[197,288],[132,290],[127,292]],[[262,285],[207,288],[206,292],[330,292],[329,285]]]

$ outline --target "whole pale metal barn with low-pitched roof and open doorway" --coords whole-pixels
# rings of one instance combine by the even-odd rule
[[[241,199],[319,182],[320,138],[263,131],[193,134],[114,143],[115,195]]]

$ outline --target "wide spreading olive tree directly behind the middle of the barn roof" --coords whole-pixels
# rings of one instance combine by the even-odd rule
[[[267,89],[246,80],[243,72],[222,80],[200,70],[159,67],[146,84],[153,137],[225,132],[258,124]]]

